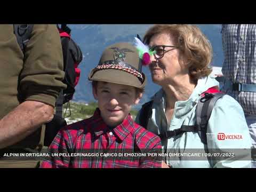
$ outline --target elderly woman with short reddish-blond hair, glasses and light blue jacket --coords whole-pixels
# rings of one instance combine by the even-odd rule
[[[193,25],[155,25],[143,42],[154,51],[149,69],[162,89],[146,110],[149,115],[145,110],[142,114],[142,107],[136,121],[146,120],[146,129],[161,137],[162,167],[251,167],[250,134],[235,99],[222,95],[215,101],[205,133],[201,125],[195,126],[197,110],[202,110],[197,105],[213,97],[207,90],[218,92],[219,86],[209,76],[212,47],[201,30]],[[203,118],[206,113],[199,114]]]

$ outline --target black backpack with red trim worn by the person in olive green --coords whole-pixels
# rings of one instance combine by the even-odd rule
[[[29,42],[33,27],[33,24],[13,25],[14,34],[17,37],[17,42],[23,53],[26,52],[26,45]],[[61,27],[57,25],[57,28],[61,39],[64,64],[63,69],[65,71],[65,79],[63,80],[63,83],[67,85],[67,89],[61,90],[55,103],[54,118],[50,123],[46,124],[44,137],[45,146],[49,146],[61,127],[67,125],[65,119],[62,117],[62,106],[73,98],[75,86],[77,85],[80,77],[80,69],[77,67],[83,59],[81,49],[70,37],[71,29],[66,24],[62,24]]]

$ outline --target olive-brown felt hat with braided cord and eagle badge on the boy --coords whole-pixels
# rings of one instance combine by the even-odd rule
[[[116,43],[103,51],[98,66],[91,70],[90,81],[103,81],[143,88],[146,76],[142,73],[142,60],[130,43]]]

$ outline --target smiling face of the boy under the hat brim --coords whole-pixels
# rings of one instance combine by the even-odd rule
[[[93,96],[98,100],[101,117],[109,126],[123,122],[132,109],[139,103],[142,93],[137,94],[135,87],[115,83],[98,82],[93,87]]]

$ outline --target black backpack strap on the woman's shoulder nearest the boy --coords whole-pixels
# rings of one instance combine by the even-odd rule
[[[152,110],[151,110],[152,105],[153,105],[153,100],[146,102],[144,105],[142,105],[140,110],[140,116],[139,116],[140,125],[145,129],[147,129],[149,117],[152,115]]]

